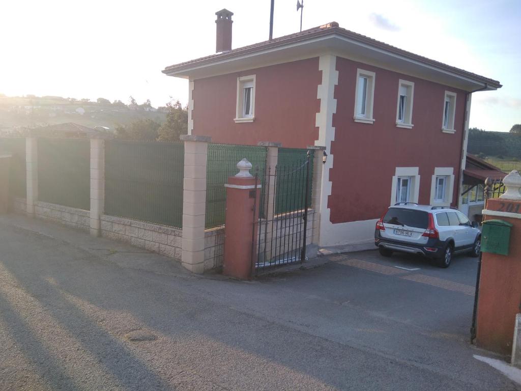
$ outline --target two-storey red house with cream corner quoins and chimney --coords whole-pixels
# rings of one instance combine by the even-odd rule
[[[213,142],[326,147],[320,245],[370,243],[387,206],[459,205],[472,93],[499,81],[370,39],[331,22],[172,65],[189,80],[189,133]]]

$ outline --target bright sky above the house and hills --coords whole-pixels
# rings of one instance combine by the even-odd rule
[[[396,6],[399,4],[400,6]],[[24,0],[0,13],[0,93],[188,101],[166,66],[215,53],[215,12],[231,10],[232,47],[264,41],[269,0]],[[340,27],[499,80],[473,94],[470,127],[521,123],[521,0],[304,0],[303,29]],[[299,31],[296,0],[275,0],[274,36]]]

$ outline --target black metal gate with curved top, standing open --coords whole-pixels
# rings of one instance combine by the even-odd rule
[[[312,161],[313,154],[307,151],[292,162],[268,167],[254,224],[256,273],[305,259]]]

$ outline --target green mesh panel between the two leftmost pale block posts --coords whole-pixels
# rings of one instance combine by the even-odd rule
[[[38,139],[38,199],[90,209],[90,140]]]

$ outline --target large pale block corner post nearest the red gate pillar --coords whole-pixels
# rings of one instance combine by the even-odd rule
[[[181,264],[192,273],[204,273],[206,219],[206,162],[208,136],[182,135],[184,141],[183,241]]]

